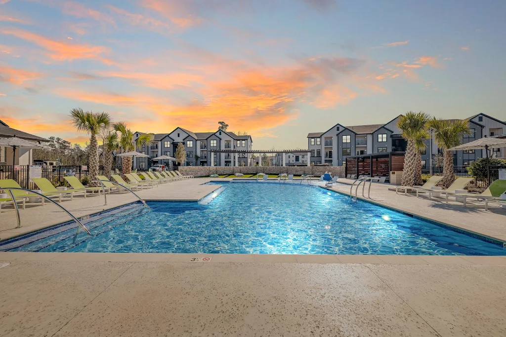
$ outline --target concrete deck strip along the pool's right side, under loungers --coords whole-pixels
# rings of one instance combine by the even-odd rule
[[[338,182],[347,185],[335,185],[331,189],[349,195],[350,185],[354,181],[351,179],[338,179]],[[369,183],[365,188],[365,196],[367,196],[368,187]],[[506,242],[506,209],[500,206],[489,205],[488,211],[485,211],[485,204],[476,200],[469,200],[468,207],[463,207],[462,203],[456,202],[453,197],[448,197],[448,204],[446,204],[444,197],[429,199],[427,195],[423,194],[420,194],[419,198],[409,194],[405,196],[389,190],[392,187],[390,184],[372,183],[370,200]],[[355,186],[353,186],[353,196],[355,196]],[[358,197],[363,199],[361,196],[362,186],[359,186]]]

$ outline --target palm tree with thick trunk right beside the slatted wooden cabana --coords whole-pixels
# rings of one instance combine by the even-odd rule
[[[406,115],[401,116],[397,122],[397,127],[401,130],[402,137],[407,140],[406,153],[404,155],[404,172],[402,173],[401,181],[402,186],[413,186],[415,183],[415,173],[418,170],[417,161],[421,164],[421,157],[419,157],[420,142],[423,143],[423,140],[428,137],[427,122],[429,118],[430,116],[424,112],[409,111]],[[418,155],[416,154],[417,152]],[[419,170],[421,174],[421,165]]]

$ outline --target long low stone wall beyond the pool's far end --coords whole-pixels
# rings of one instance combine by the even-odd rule
[[[322,175],[329,172],[331,175],[340,177],[345,176],[344,166],[180,166],[179,172],[183,175],[193,175],[203,177],[211,174],[225,175],[234,173],[256,174],[258,172],[266,174],[287,173],[294,175],[312,174]]]

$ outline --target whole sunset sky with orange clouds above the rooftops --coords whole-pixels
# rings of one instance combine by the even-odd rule
[[[0,0],[0,119],[83,143],[72,108],[134,131],[307,148],[408,110],[506,120],[506,1]]]

